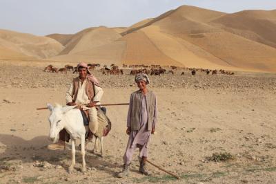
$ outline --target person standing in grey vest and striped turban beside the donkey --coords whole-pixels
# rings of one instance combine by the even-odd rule
[[[119,178],[128,176],[129,166],[135,149],[139,148],[141,174],[149,175],[146,166],[150,134],[154,134],[157,123],[157,100],[155,93],[147,89],[150,83],[148,75],[144,73],[135,76],[139,87],[130,95],[126,134],[129,135],[126,153],[124,154],[124,169],[118,174]]]

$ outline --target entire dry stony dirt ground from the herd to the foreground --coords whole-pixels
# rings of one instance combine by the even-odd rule
[[[105,157],[90,143],[81,173],[81,155],[68,174],[70,145],[50,151],[47,102],[65,103],[72,73],[45,73],[41,66],[0,64],[0,183],[276,183],[276,75],[195,75],[150,77],[158,100],[157,132],[149,160],[177,174],[176,180],[149,166],[152,176],[137,172],[137,152],[129,178],[117,178],[128,136],[128,107],[108,107],[112,130],[104,139]],[[99,78],[102,103],[128,102],[137,90],[133,76]],[[226,153],[233,159],[208,157]],[[213,157],[215,158],[215,157]]]

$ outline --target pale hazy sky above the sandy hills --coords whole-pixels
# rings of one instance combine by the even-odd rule
[[[276,0],[0,0],[0,28],[35,35],[130,26],[181,5],[221,12],[273,10]]]

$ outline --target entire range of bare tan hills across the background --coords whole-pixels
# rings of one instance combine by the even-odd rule
[[[0,31],[0,46],[49,62],[160,64],[235,71],[276,71],[276,10],[227,14],[180,6],[127,28],[86,28],[75,34]],[[10,51],[8,53],[11,53]]]

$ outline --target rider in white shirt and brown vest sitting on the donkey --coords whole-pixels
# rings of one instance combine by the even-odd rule
[[[103,89],[99,86],[97,78],[88,70],[88,65],[86,63],[79,63],[77,65],[77,71],[79,72],[79,77],[73,79],[66,92],[66,104],[69,106],[77,105],[79,109],[88,110],[90,119],[89,128],[90,131],[95,134],[98,129],[97,109],[92,107],[95,107],[96,104],[100,104],[99,101],[103,96]],[[59,142],[57,144],[48,145],[48,149],[63,149],[64,141],[68,140],[66,134],[68,133],[65,129],[61,130],[59,133]]]

